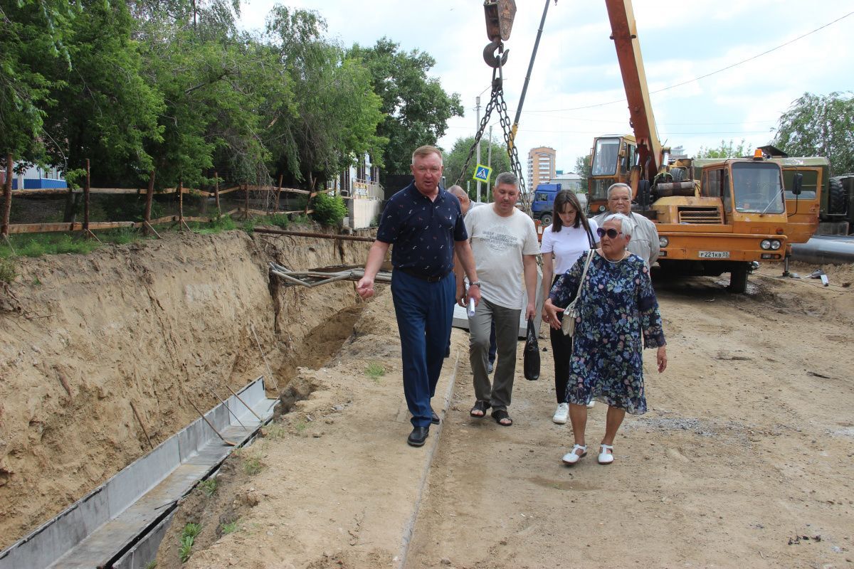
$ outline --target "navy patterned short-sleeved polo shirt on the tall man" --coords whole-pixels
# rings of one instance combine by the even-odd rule
[[[444,276],[453,270],[453,241],[465,241],[459,200],[439,188],[436,200],[423,195],[414,181],[392,195],[383,210],[377,240],[392,243],[391,264],[421,276]]]

